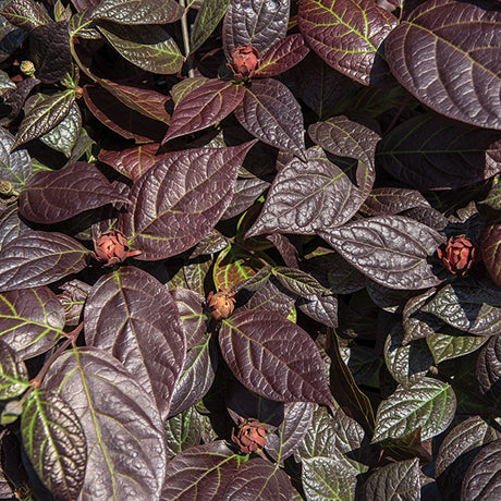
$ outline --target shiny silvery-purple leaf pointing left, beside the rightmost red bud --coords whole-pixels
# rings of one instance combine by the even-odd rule
[[[435,230],[402,216],[379,216],[320,232],[351,265],[390,289],[425,289],[441,280],[428,258],[443,243]]]

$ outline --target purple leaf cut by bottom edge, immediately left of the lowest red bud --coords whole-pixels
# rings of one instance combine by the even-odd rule
[[[239,465],[222,440],[191,448],[168,464],[161,499],[219,501]]]

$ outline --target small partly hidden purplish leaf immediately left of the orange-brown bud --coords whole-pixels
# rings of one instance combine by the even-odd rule
[[[207,331],[207,317],[204,315],[204,297],[188,289],[170,291],[181,316],[181,327],[186,338],[186,350],[197,345]]]

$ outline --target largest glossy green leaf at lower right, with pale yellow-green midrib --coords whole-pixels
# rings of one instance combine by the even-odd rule
[[[436,437],[451,424],[456,407],[450,384],[431,378],[395,392],[379,405],[372,442],[398,439],[421,430],[421,440]]]

